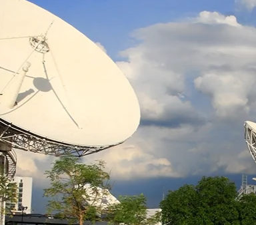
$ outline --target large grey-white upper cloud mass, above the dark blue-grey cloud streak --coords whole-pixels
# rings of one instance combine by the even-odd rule
[[[179,95],[191,95],[186,85],[193,79],[195,88],[211,97],[217,116],[229,117],[237,108],[248,113],[256,30],[231,18],[203,12],[190,23],[159,24],[135,32],[141,43],[123,51],[129,61],[119,66],[137,90],[143,118],[182,122],[185,117],[200,123],[202,112]]]

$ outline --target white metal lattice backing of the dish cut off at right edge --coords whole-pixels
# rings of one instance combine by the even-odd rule
[[[245,122],[245,142],[247,143],[248,150],[256,162],[256,130],[253,130],[249,124]]]

